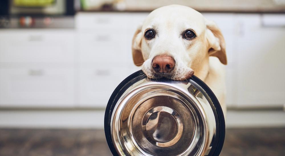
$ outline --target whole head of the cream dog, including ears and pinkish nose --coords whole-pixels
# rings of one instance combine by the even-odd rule
[[[224,39],[217,26],[181,5],[152,11],[135,32],[132,50],[134,63],[142,65],[149,78],[188,79],[209,56],[227,63]]]

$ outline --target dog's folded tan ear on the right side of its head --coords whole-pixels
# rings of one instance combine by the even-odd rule
[[[225,39],[217,24],[213,21],[205,19],[206,22],[206,36],[209,43],[208,53],[209,56],[219,58],[221,63],[227,64]]]

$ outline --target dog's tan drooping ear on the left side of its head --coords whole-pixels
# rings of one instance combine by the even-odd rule
[[[132,41],[132,53],[133,53],[133,61],[136,66],[141,66],[144,62],[143,54],[141,51],[141,44],[143,39],[143,34],[141,32],[142,25],[139,25]]]

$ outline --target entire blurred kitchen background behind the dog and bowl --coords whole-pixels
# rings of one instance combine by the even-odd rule
[[[1,0],[0,155],[111,155],[104,112],[139,70],[133,33],[170,4],[200,11],[225,37],[221,155],[284,155],[285,0]]]

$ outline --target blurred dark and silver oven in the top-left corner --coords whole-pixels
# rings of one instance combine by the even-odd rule
[[[0,28],[74,28],[74,0],[1,0]]]

